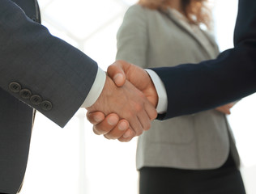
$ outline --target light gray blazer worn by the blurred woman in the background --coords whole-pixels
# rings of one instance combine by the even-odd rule
[[[215,58],[219,53],[215,40],[207,32],[202,33],[207,44],[173,11],[134,5],[126,12],[117,33],[117,59],[152,68]],[[226,116],[215,110],[155,120],[151,129],[139,137],[137,168],[213,169],[225,162],[230,147],[238,164]]]

